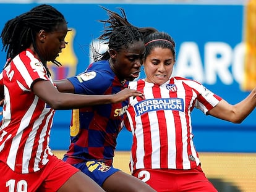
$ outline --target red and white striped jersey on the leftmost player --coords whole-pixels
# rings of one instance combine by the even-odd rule
[[[38,79],[53,81],[30,49],[16,56],[0,78],[4,84],[0,161],[18,173],[36,172],[53,156],[48,144],[54,110],[31,86]]]

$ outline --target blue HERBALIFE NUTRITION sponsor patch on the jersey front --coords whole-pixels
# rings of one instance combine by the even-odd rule
[[[183,112],[184,101],[180,98],[146,99],[135,104],[134,108],[137,116],[145,114],[146,112],[159,110],[173,110]]]

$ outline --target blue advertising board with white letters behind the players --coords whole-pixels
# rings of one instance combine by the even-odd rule
[[[64,14],[72,28],[70,43],[58,59],[63,67],[50,67],[53,78],[66,78],[86,69],[92,61],[90,45],[101,35],[108,18],[98,4],[52,4]],[[7,20],[36,4],[0,4],[0,28]],[[166,31],[176,41],[177,61],[173,75],[193,78],[231,104],[249,92],[241,88],[244,77],[244,5],[207,4],[101,4],[118,12],[126,11],[130,23],[137,27],[154,27]],[[15,11],[14,11],[15,10]],[[2,47],[2,44],[0,43]],[[5,52],[0,52],[3,67]],[[145,74],[140,74],[140,78]],[[256,152],[256,111],[241,124],[205,116],[194,109],[192,123],[198,151]],[[69,146],[70,111],[57,111],[51,131],[51,148]],[[122,130],[117,150],[129,150],[131,133]]]

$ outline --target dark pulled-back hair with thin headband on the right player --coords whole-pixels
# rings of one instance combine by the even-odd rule
[[[150,33],[144,36],[144,43],[146,47],[145,58],[154,48],[167,48],[173,52],[174,61],[176,61],[175,41],[168,33],[158,31]]]

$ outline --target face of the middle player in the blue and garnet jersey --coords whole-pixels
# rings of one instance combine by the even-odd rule
[[[140,67],[143,64],[145,46],[143,41],[130,44],[129,48],[121,49],[111,55],[114,72],[119,80],[133,81],[139,77]]]

